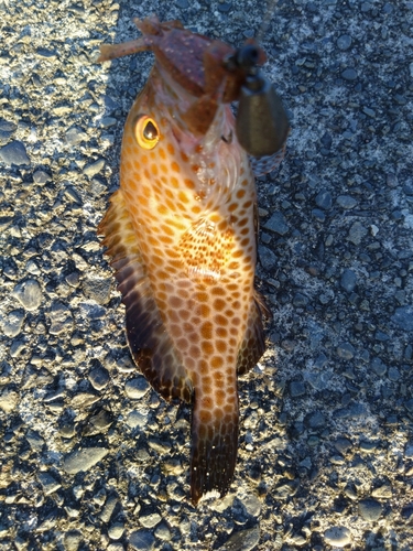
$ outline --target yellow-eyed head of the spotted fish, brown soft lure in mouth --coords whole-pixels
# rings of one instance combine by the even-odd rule
[[[191,212],[182,194],[183,214],[193,217],[214,208],[247,164],[230,108],[240,80],[226,65],[233,48],[156,18],[137,24],[155,65],[126,123],[121,180],[133,180],[122,177],[133,165],[134,180],[161,181],[163,195],[171,187],[175,194],[195,192],[199,203]]]

